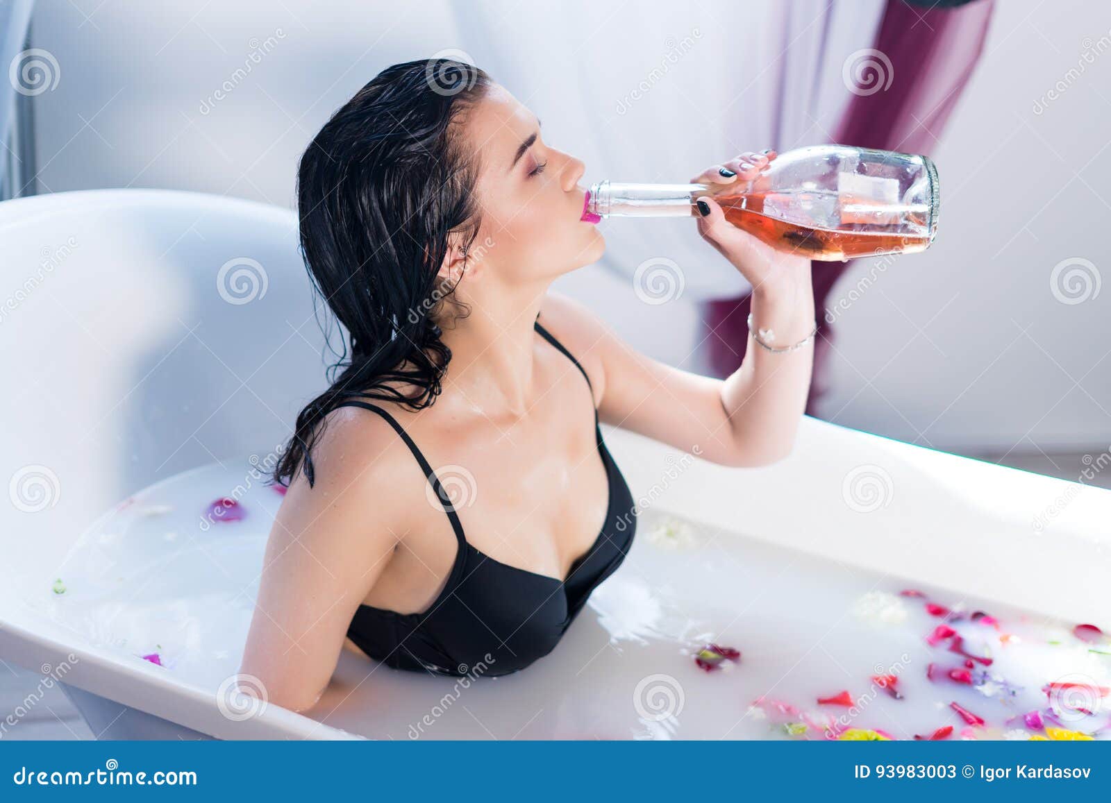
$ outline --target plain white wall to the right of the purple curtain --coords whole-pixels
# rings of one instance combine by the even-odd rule
[[[1108,449],[1111,289],[1095,282],[1111,281],[1109,137],[1111,6],[997,2],[935,153],[938,239],[843,315],[825,416],[958,451]],[[1072,258],[1094,264],[1091,289],[1054,294]]]

